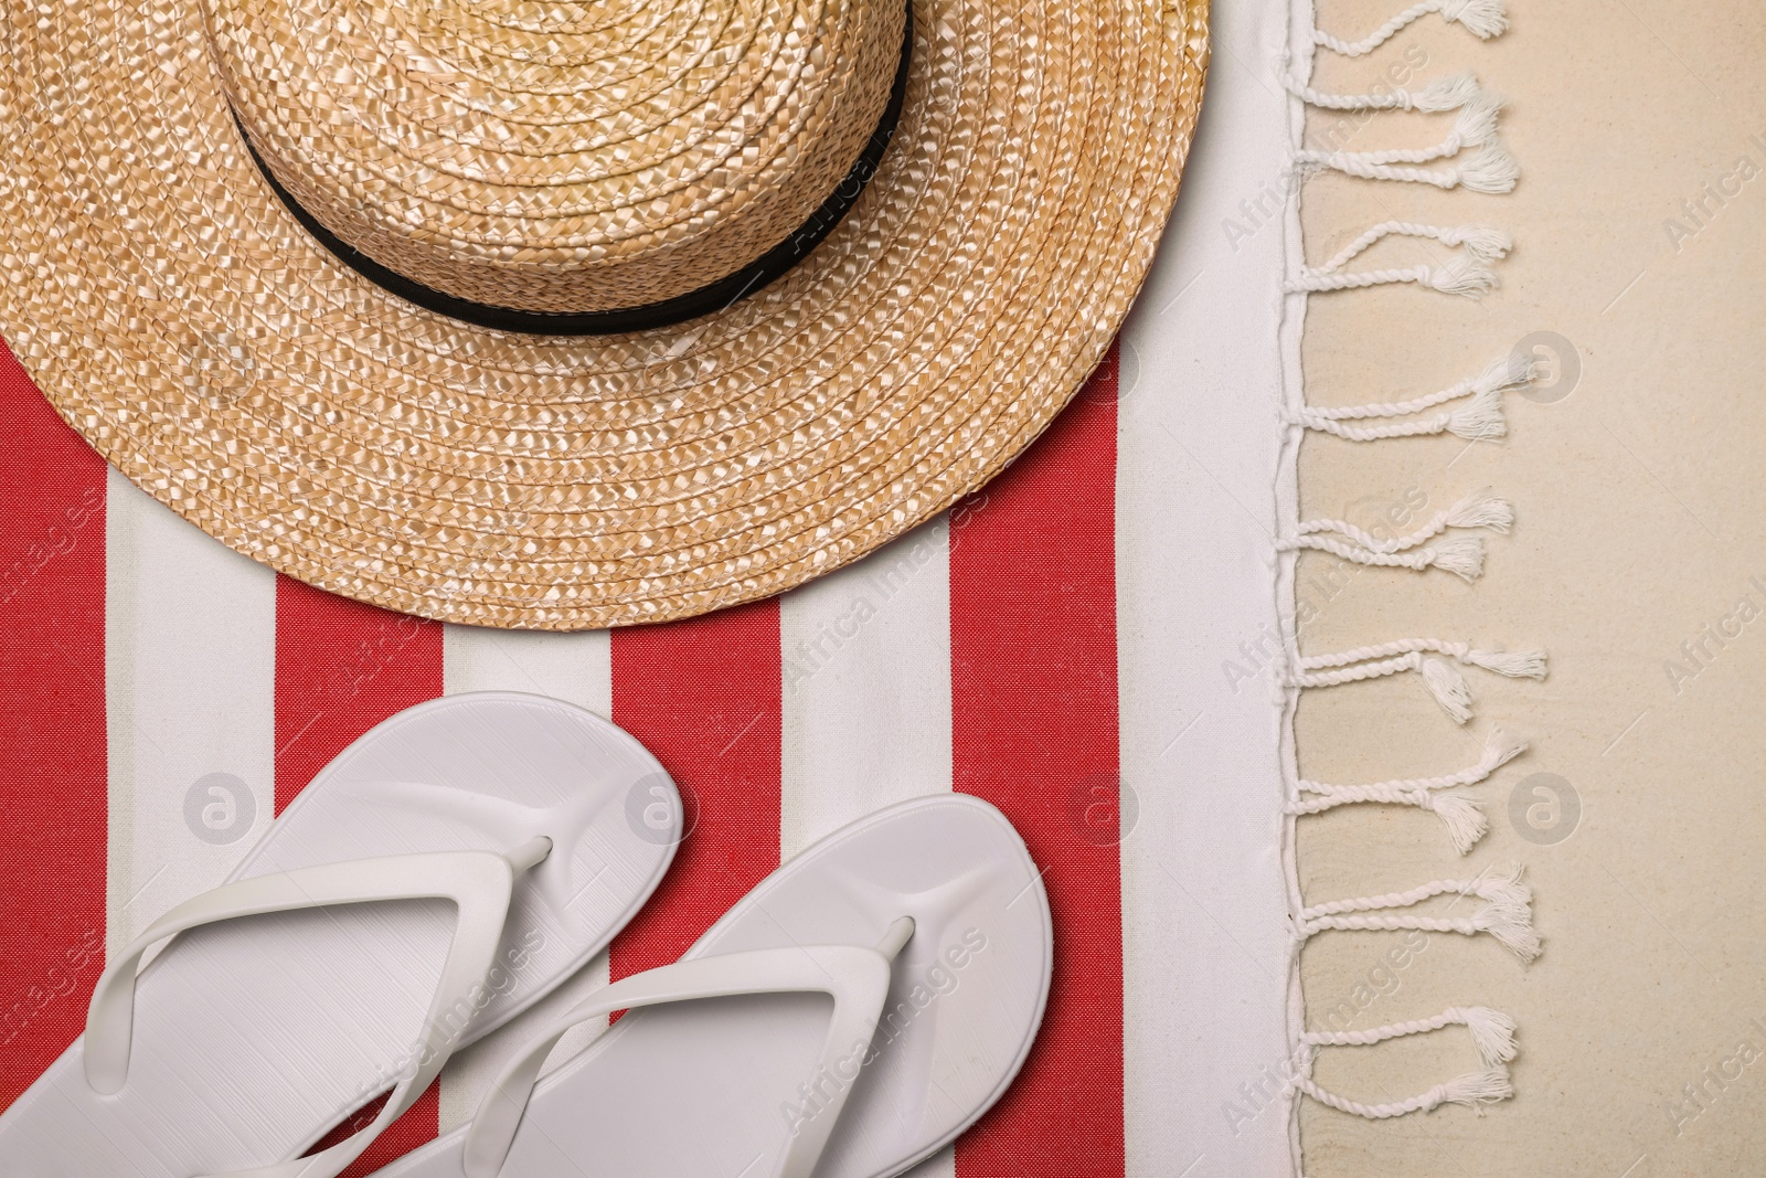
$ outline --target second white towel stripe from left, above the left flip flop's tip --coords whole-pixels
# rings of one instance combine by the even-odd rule
[[[613,643],[606,631],[544,634],[449,625],[442,632],[442,689],[449,696],[466,691],[526,691],[565,699],[611,719]],[[549,1023],[606,985],[608,977],[608,954],[600,954],[533,1008],[449,1060],[442,1072],[442,1132],[472,1118],[491,1081],[530,1038],[532,1028]],[[546,1070],[551,1072],[592,1044],[604,1028],[606,1021],[565,1035]]]

